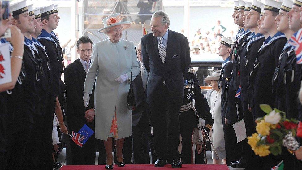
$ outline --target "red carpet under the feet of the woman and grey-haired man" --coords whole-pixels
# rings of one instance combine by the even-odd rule
[[[143,169],[143,170],[166,170],[166,169],[174,169],[172,168],[171,165],[165,165],[162,168],[157,168],[154,167],[154,165],[151,164],[136,164],[136,165],[126,165],[124,167],[118,167],[117,165],[113,165],[114,170],[126,170],[126,169]],[[61,170],[102,170],[105,169],[105,165],[68,165],[68,166],[63,166]],[[192,165],[192,164],[183,164],[182,168],[178,168],[179,170],[184,170],[184,169],[198,169],[198,170],[229,170],[229,168],[226,165]]]

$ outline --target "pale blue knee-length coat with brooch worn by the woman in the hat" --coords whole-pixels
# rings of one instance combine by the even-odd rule
[[[115,108],[117,139],[132,135],[131,111],[126,105],[130,71],[133,81],[140,72],[133,42],[120,39],[118,43],[112,43],[107,38],[94,44],[84,92],[91,94],[95,81],[95,138],[107,140]],[[125,73],[129,77],[127,81],[122,84],[115,81]]]

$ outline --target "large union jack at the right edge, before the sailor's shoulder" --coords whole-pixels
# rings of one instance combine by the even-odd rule
[[[288,43],[295,47],[297,64],[302,64],[302,29],[294,33]]]

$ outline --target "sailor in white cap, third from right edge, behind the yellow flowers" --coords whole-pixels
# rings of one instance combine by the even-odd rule
[[[279,56],[287,42],[285,35],[277,30],[275,17],[278,15],[282,2],[266,0],[264,6],[264,15],[262,19],[262,28],[270,34],[259,49],[258,56],[254,62],[254,68],[250,75],[253,77],[253,100],[252,114],[254,119],[265,116],[261,110],[260,104],[275,106],[275,94],[272,93],[272,78],[275,68],[278,66]],[[271,158],[270,158],[271,157]],[[264,169],[270,169],[281,160],[273,155],[270,159],[261,158],[264,163]]]

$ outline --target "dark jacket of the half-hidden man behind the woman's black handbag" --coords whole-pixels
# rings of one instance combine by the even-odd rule
[[[147,116],[147,119],[144,120],[149,120],[149,106],[146,100],[146,92],[142,84],[141,72],[132,81],[132,88],[136,104],[136,110],[132,111],[132,126],[136,126],[142,116]],[[145,123],[149,124],[149,122]]]

